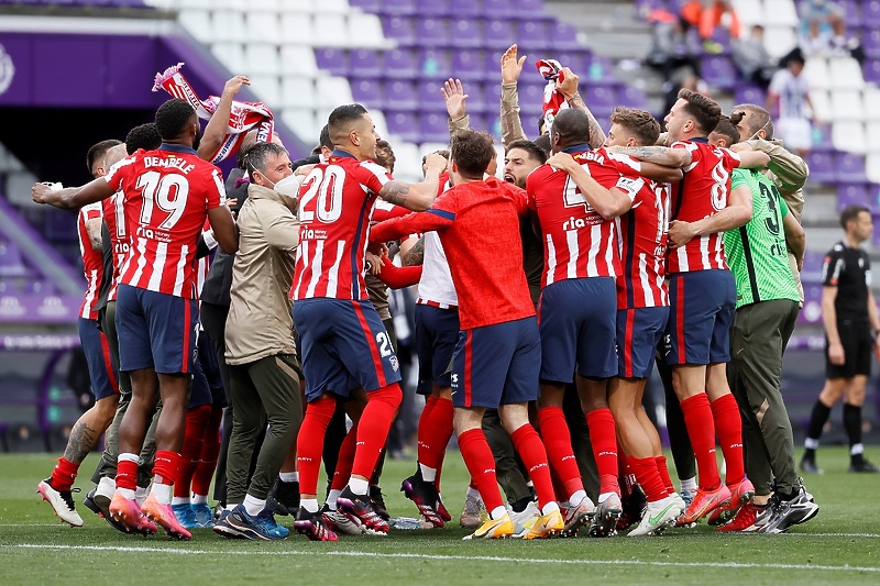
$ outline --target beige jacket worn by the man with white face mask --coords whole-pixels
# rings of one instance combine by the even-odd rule
[[[239,211],[239,252],[232,264],[227,363],[294,354],[290,285],[299,244],[297,200],[251,184]]]

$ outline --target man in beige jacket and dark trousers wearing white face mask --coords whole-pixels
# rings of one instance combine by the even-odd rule
[[[245,167],[251,186],[239,211],[239,252],[232,265],[226,329],[234,413],[227,458],[230,512],[221,517],[215,531],[274,540],[286,538],[289,530],[277,524],[266,497],[302,420],[288,295],[299,221],[297,200],[278,187],[293,180],[287,151],[274,143],[258,143],[248,151]],[[251,457],[266,424],[249,486]]]

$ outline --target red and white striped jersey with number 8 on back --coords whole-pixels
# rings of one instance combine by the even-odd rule
[[[695,222],[726,208],[730,174],[739,166],[739,155],[712,146],[705,139],[680,141],[672,148],[686,148],[692,162],[682,169],[684,178],[672,192],[670,220]],[[669,253],[667,272],[670,274],[713,268],[727,268],[723,232],[692,239]]]

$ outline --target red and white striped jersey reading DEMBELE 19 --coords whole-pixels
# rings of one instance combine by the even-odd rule
[[[191,148],[163,144],[123,158],[105,179],[123,192],[131,242],[119,283],[198,298],[196,246],[224,194],[220,169]]]

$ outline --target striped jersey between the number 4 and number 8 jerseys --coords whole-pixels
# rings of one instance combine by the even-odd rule
[[[669,184],[646,180],[632,208],[617,218],[622,270],[617,276],[617,309],[666,307]]]

